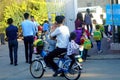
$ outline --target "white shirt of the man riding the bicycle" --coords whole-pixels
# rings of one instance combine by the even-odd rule
[[[57,43],[56,46],[59,48],[67,48],[67,45],[69,43],[69,29],[67,26],[62,25],[60,27],[57,27],[55,31],[51,33],[51,37],[56,36]]]

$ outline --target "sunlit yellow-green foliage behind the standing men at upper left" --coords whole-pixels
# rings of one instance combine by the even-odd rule
[[[6,21],[8,18],[13,18],[14,25],[19,27],[24,19],[23,14],[25,12],[33,15],[36,21],[40,24],[42,24],[44,20],[48,20],[47,5],[45,0],[9,0],[9,2],[8,0],[4,0],[3,2],[5,4],[4,8],[0,8],[3,10],[3,17],[1,17],[2,19],[0,18],[1,30],[7,27]],[[55,16],[52,15],[52,17]]]

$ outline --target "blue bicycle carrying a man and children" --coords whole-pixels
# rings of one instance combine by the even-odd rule
[[[68,70],[68,68],[71,60],[66,55],[59,55],[59,58],[56,60],[61,72],[67,80],[77,80],[80,78],[82,66],[77,59],[70,70]],[[30,73],[34,78],[41,78],[46,68],[47,66],[44,62],[43,56],[37,55],[30,64]]]

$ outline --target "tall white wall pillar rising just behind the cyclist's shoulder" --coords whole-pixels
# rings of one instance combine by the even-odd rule
[[[66,25],[69,27],[70,31],[74,31],[75,25],[74,21],[77,13],[77,0],[65,0],[65,17]]]

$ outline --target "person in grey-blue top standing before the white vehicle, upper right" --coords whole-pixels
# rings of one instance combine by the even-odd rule
[[[86,14],[85,14],[85,17],[84,17],[84,22],[85,22],[85,24],[87,26],[87,30],[90,32],[90,34],[92,33],[92,30],[93,30],[92,19],[91,18],[93,18],[93,16],[90,13],[90,9],[86,9]]]

